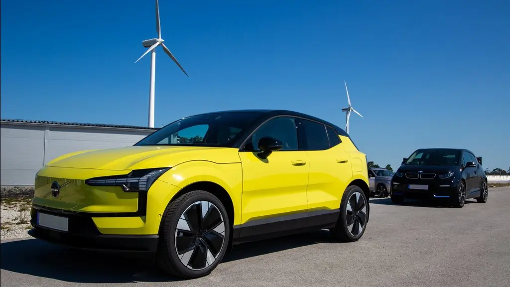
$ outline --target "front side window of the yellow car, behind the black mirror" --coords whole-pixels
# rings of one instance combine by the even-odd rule
[[[260,151],[259,140],[264,136],[270,136],[281,141],[284,146],[282,151],[297,150],[297,129],[293,117],[278,116],[270,119],[251,135],[251,141],[248,142],[246,148]]]

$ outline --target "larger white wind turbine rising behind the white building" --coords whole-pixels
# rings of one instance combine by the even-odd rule
[[[149,40],[142,41],[142,45],[146,48],[149,48],[143,55],[135,61],[138,62],[143,56],[147,55],[147,53],[152,52],[150,54],[150,88],[149,88],[149,128],[154,128],[154,86],[156,82],[156,47],[161,45],[163,51],[172,58],[172,60],[183,70],[184,74],[188,76],[184,68],[177,62],[177,59],[172,55],[170,50],[165,46],[163,40],[161,38],[161,25],[160,25],[160,17],[159,17],[159,1],[156,0],[156,31],[158,32],[158,38],[153,38]]]

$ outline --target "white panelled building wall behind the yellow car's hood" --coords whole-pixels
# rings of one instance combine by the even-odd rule
[[[0,128],[0,185],[31,186],[52,159],[75,151],[127,147],[154,130],[11,124]]]

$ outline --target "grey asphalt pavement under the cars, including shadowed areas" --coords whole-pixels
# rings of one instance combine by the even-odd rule
[[[179,281],[118,254],[35,239],[1,243],[4,286],[510,286],[510,188],[464,208],[371,199],[360,241],[327,231],[235,247],[209,276]]]

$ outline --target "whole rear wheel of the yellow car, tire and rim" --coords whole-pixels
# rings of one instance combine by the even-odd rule
[[[368,216],[368,200],[363,189],[356,185],[347,187],[340,203],[337,224],[329,230],[331,237],[342,242],[358,241],[365,233]]]

